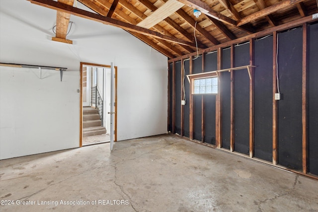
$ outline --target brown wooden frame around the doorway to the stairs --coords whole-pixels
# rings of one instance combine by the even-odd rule
[[[79,70],[79,84],[80,84],[80,92],[79,92],[79,147],[82,147],[82,139],[83,139],[83,66],[93,66],[93,67],[101,67],[101,68],[111,68],[109,65],[100,65],[100,64],[92,64],[92,63],[83,63],[80,62],[80,70]],[[114,66],[115,69],[115,124],[114,124],[114,141],[117,141],[117,66]]]

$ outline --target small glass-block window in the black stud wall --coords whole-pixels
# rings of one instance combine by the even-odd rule
[[[218,77],[193,79],[192,94],[217,94]]]

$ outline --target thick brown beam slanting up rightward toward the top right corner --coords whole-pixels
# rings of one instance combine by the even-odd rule
[[[265,9],[259,10],[258,12],[254,12],[253,14],[250,14],[246,17],[241,18],[240,20],[238,20],[237,25],[241,26],[243,24],[249,23],[252,20],[264,17],[264,16],[269,15],[271,13],[274,13],[280,9],[283,9],[285,7],[290,7],[291,5],[294,5],[296,3],[300,3],[303,1],[304,0],[282,0],[279,3],[276,3],[274,5],[266,7]]]

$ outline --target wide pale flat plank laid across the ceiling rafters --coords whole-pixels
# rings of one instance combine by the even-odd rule
[[[155,26],[157,23],[180,9],[182,6],[184,6],[184,4],[177,0],[168,0],[158,9],[156,9],[156,11],[154,11],[151,15],[139,22],[137,26],[149,29],[150,27]]]

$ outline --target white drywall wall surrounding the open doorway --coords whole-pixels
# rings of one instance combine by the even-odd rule
[[[122,29],[71,21],[74,45],[54,42],[55,10],[0,1],[1,63],[68,68],[61,82],[59,71],[0,67],[0,159],[79,146],[80,62],[118,67],[118,141],[166,133],[167,58]]]

